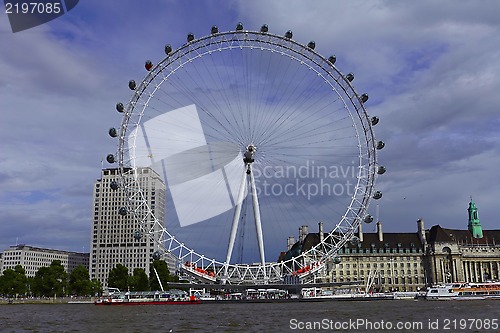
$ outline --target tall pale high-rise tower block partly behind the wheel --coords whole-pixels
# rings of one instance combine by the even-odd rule
[[[165,183],[150,168],[138,169],[137,173],[148,206],[159,221],[165,221]],[[153,253],[158,250],[155,240],[147,235],[134,237],[139,231],[139,222],[132,213],[119,213],[121,207],[127,206],[124,190],[111,186],[119,180],[119,169],[103,169],[101,179],[94,185],[89,273],[91,279],[98,279],[103,286],[107,286],[109,271],[117,264],[127,267],[129,274],[135,268],[143,268],[149,275]],[[150,223],[146,226],[148,229],[153,227],[153,222],[147,223]]]

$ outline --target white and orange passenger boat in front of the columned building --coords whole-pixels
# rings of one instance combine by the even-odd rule
[[[500,282],[441,284],[430,287],[425,298],[429,300],[500,299]]]

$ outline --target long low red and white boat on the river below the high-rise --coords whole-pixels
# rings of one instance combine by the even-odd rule
[[[97,299],[95,305],[186,305],[201,300],[182,290],[114,292]]]

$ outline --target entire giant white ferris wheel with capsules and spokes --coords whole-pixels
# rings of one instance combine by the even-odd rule
[[[384,143],[368,95],[335,62],[291,31],[241,23],[190,33],[179,48],[166,45],[163,60],[146,61],[130,101],[117,104],[122,122],[109,134],[118,151],[108,162],[128,198],[120,213],[136,218],[137,237],[157,241],[155,256],[168,253],[199,281],[273,283],[305,280],[357,241],[382,195],[374,185]],[[166,185],[161,216],[139,181],[145,167]],[[320,229],[305,244],[295,236],[308,225]]]

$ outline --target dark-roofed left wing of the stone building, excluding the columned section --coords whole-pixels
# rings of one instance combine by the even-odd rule
[[[376,233],[364,233],[360,226],[352,242],[347,242],[338,252],[339,261],[329,260],[320,277],[323,282],[346,284],[358,282],[371,291],[417,291],[427,284],[425,262],[424,222],[417,222],[415,233],[384,233],[377,222]],[[295,249],[307,251],[321,238],[322,225],[317,233],[304,234],[307,226],[299,229],[299,241],[291,244]],[[325,235],[323,235],[325,237]],[[297,253],[297,252],[295,252]],[[286,258],[286,253],[282,254]],[[315,261],[315,260],[312,260]]]

